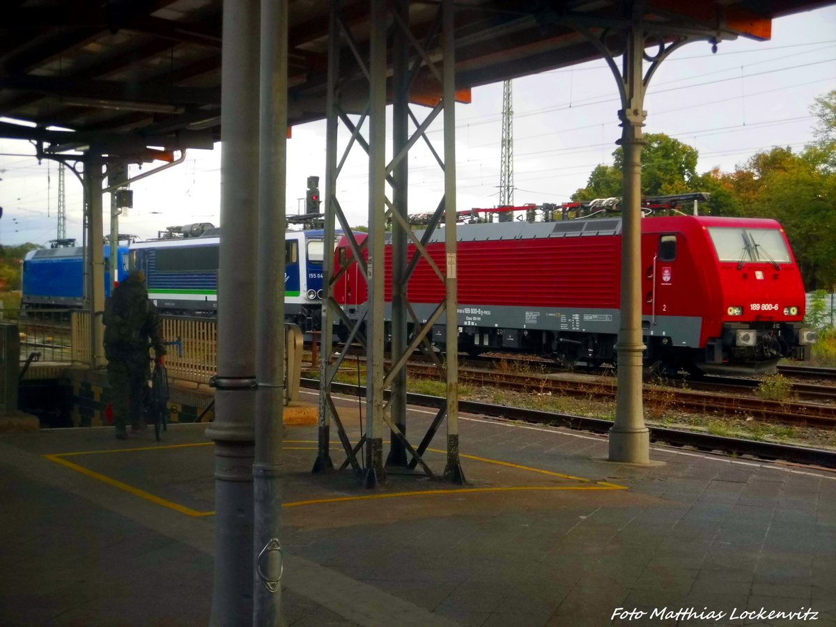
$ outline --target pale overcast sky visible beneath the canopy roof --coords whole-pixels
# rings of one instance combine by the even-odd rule
[[[599,163],[612,164],[619,138],[619,101],[603,61],[513,81],[514,202],[567,201]],[[813,99],[836,89],[836,7],[780,18],[772,40],[745,38],[676,51],[653,77],[645,99],[646,133],[665,133],[699,151],[700,173],[733,171],[772,146],[802,150],[813,139]],[[413,107],[419,119],[426,110]],[[429,137],[443,154],[441,115]],[[502,83],[472,91],[472,104],[456,106],[457,208],[491,207],[498,201]],[[344,145],[344,136],[341,145]],[[443,176],[419,142],[410,154],[410,213],[429,212],[441,200]],[[220,152],[190,150],[186,161],[137,181],[134,207],[121,232],[155,237],[166,226],[219,224]],[[27,142],[0,140],[0,243],[45,244],[56,235],[57,164],[38,162]],[[161,164],[155,164],[161,165]],[[144,171],[149,170],[146,165]],[[339,176],[340,204],[352,225],[368,216],[367,161],[352,150]],[[130,175],[139,173],[131,166]],[[325,125],[293,127],[288,140],[288,213],[303,211],[305,182],[324,185]],[[67,172],[67,234],[81,242],[82,191]],[[110,206],[108,196],[104,206]],[[109,224],[105,220],[105,231]]]

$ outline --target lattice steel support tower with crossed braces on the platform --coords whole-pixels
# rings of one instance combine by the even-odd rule
[[[334,0],[331,5],[329,28],[329,77],[327,95],[327,145],[326,174],[324,190],[325,246],[326,259],[334,258],[334,230],[339,222],[348,237],[352,257],[336,272],[324,264],[325,296],[322,320],[322,351],[320,362],[321,391],[319,396],[319,451],[314,463],[314,472],[326,472],[334,468],[331,460],[330,425],[337,426],[346,459],[340,466],[351,466],[362,477],[366,487],[375,487],[385,480],[386,466],[406,471],[421,466],[430,477],[444,477],[453,482],[464,482],[458,454],[458,361],[456,349],[447,351],[446,364],[433,353],[428,339],[434,324],[444,324],[446,345],[456,347],[456,146],[455,146],[455,76],[454,76],[454,31],[452,0],[442,0],[434,26],[419,42],[410,31],[409,3],[396,0],[387,8],[385,0],[371,0],[373,30],[370,35],[368,55],[359,48],[348,26],[348,20],[341,17],[341,4]],[[385,161],[386,135],[386,38],[387,24],[393,38],[393,146],[394,156]],[[340,50],[348,48],[356,67],[340,68]],[[436,59],[441,53],[441,68]],[[433,106],[424,120],[419,121],[410,109],[410,85],[418,69],[425,67],[441,84],[442,98]],[[370,98],[359,115],[359,120],[349,118],[340,99],[341,86],[346,77],[363,74],[369,81]],[[444,148],[443,159],[434,149],[426,135],[427,128],[438,115],[443,114]],[[368,140],[361,133],[368,120]],[[409,133],[409,123],[415,130]],[[348,145],[338,155],[337,130],[342,122],[350,132]],[[421,237],[412,231],[407,219],[408,166],[406,156],[410,148],[424,140],[444,171],[444,196],[433,214],[430,224]],[[336,181],[345,163],[349,150],[360,145],[369,155],[369,235],[359,244],[351,235],[349,223],[339,204]],[[338,163],[339,156],[339,163]],[[387,184],[391,187],[391,199],[386,195]],[[450,206],[451,211],[445,212]],[[385,227],[387,220],[392,223],[392,271],[391,271],[391,324],[385,322]],[[439,227],[445,224],[446,267],[438,264],[426,251],[426,242]],[[415,247],[415,254],[408,258],[407,243]],[[419,260],[429,264],[436,277],[445,285],[446,296],[427,312],[416,313],[406,298],[406,283]],[[369,288],[369,298],[361,317],[352,321],[334,299],[334,282],[346,271],[349,263],[356,261]],[[349,338],[339,355],[332,359],[334,341],[332,323],[339,319],[349,329]],[[385,338],[391,335],[391,360],[387,370],[384,363]],[[366,418],[365,432],[359,441],[352,443],[346,433],[339,410],[331,396],[331,384],[340,364],[343,363],[347,347],[359,342],[367,354]],[[439,410],[429,430],[415,448],[406,436],[406,361],[416,349],[436,360],[439,370],[446,378],[446,404]],[[384,391],[391,388],[390,399],[385,400]],[[423,459],[432,437],[446,418],[446,466],[439,473],[433,471]],[[386,461],[383,456],[385,431],[390,431],[390,453]],[[364,449],[364,465],[358,461],[358,453]],[[402,471],[403,472],[403,471]]]

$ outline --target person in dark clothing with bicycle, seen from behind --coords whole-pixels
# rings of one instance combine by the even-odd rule
[[[148,299],[145,275],[134,270],[110,293],[104,304],[104,356],[113,399],[116,439],[145,429],[142,391],[149,378],[149,340],[157,363],[165,364],[160,314]]]

